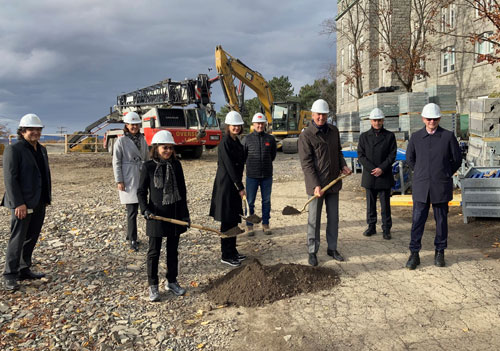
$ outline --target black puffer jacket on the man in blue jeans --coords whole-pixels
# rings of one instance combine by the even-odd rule
[[[273,176],[276,158],[276,140],[266,132],[253,132],[243,139],[247,177],[269,178]]]

